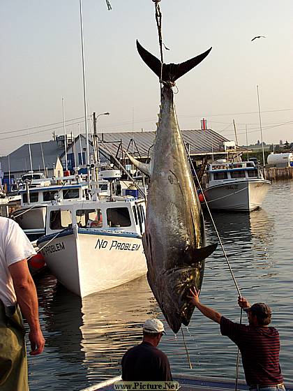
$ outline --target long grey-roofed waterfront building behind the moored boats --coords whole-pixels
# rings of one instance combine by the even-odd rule
[[[238,147],[233,141],[216,133],[212,129],[181,131],[186,149],[192,161],[202,163],[204,159],[234,158],[246,152],[246,149]],[[156,137],[156,131],[100,133],[97,143],[93,142],[93,135],[89,140],[90,163],[93,163],[95,155],[94,146],[98,145],[101,161],[112,161],[115,156],[122,163],[126,163],[125,151],[141,161],[148,161],[151,156],[151,148]],[[60,158],[64,170],[73,171],[76,166],[86,166],[87,142],[85,135],[73,138],[64,135],[54,137],[54,140],[25,144],[8,156],[0,157],[3,177],[17,179],[26,172],[44,172],[47,177],[54,175],[54,166],[57,158]],[[67,167],[66,167],[67,155]]]

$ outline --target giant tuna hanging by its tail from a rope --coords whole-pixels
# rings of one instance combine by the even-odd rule
[[[204,259],[216,244],[205,246],[204,219],[197,197],[186,148],[174,107],[172,86],[199,64],[211,49],[182,64],[163,64],[137,41],[144,62],[161,78],[161,106],[150,165],[133,164],[149,175],[146,230],[143,236],[147,279],[172,330],[188,325],[194,306],[188,295],[198,290],[204,276]]]

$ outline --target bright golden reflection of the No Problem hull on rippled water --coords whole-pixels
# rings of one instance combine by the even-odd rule
[[[141,341],[142,323],[157,309],[146,276],[84,297],[82,351],[91,381],[119,374],[123,353]]]

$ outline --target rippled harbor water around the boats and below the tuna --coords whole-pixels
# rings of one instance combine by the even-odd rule
[[[285,381],[292,382],[293,346],[293,181],[271,185],[262,205],[250,214],[213,213],[241,294],[250,302],[266,302],[272,324],[280,332],[280,364]],[[216,234],[206,215],[207,242]],[[110,261],[110,260],[109,260]],[[158,316],[164,321],[147,279],[131,281],[81,300],[47,274],[36,281],[45,351],[29,356],[31,391],[81,390],[120,374],[123,353],[140,342],[142,323]],[[220,246],[207,260],[201,301],[224,316],[239,321],[237,291]],[[247,322],[246,314],[243,323]],[[183,335],[166,325],[160,348],[167,353],[173,373],[235,378],[237,349],[219,326],[195,309]],[[29,348],[29,347],[28,347]],[[244,378],[240,366],[239,378]]]

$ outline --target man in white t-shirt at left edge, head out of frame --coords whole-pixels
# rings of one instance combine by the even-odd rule
[[[0,217],[0,391],[29,390],[22,315],[29,323],[30,354],[42,353],[45,346],[36,286],[27,265],[33,254],[20,226]]]

